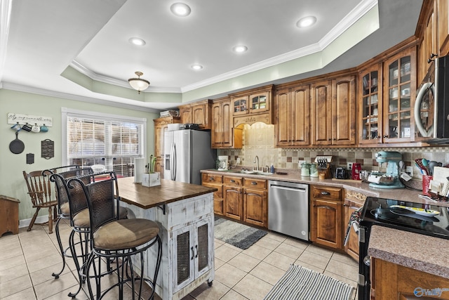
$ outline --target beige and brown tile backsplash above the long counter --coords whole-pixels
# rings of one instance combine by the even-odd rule
[[[385,171],[387,164],[376,162],[374,155],[378,151],[398,151],[402,153],[405,166],[413,167],[413,179],[422,180],[420,170],[415,166],[415,159],[425,158],[429,161],[449,163],[449,148],[275,148],[274,125],[255,123],[245,124],[243,128],[242,149],[219,149],[217,155],[227,155],[229,164],[234,166],[240,158],[239,167],[252,168],[255,156],[259,157],[260,167],[274,165],[279,169],[299,169],[298,160],[314,162],[318,155],[332,155],[333,167],[347,167],[347,162],[361,164],[363,170]],[[405,171],[405,170],[403,170]]]

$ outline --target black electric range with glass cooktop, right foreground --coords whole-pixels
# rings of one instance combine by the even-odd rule
[[[386,226],[449,240],[449,208],[436,204],[368,197],[359,218],[358,299],[370,299],[368,244],[371,226]]]

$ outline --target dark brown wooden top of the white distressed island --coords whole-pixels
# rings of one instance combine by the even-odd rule
[[[120,200],[128,204],[149,209],[163,204],[213,193],[216,188],[161,179],[161,185],[152,187],[134,183],[134,177],[118,178]]]

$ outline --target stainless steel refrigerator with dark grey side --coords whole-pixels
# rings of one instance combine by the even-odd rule
[[[201,185],[200,170],[215,168],[216,151],[210,148],[210,131],[166,131],[163,138],[163,178]]]

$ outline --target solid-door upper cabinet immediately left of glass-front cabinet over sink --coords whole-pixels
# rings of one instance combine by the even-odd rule
[[[220,98],[212,104],[212,148],[242,148],[242,128],[232,126],[231,99]]]

